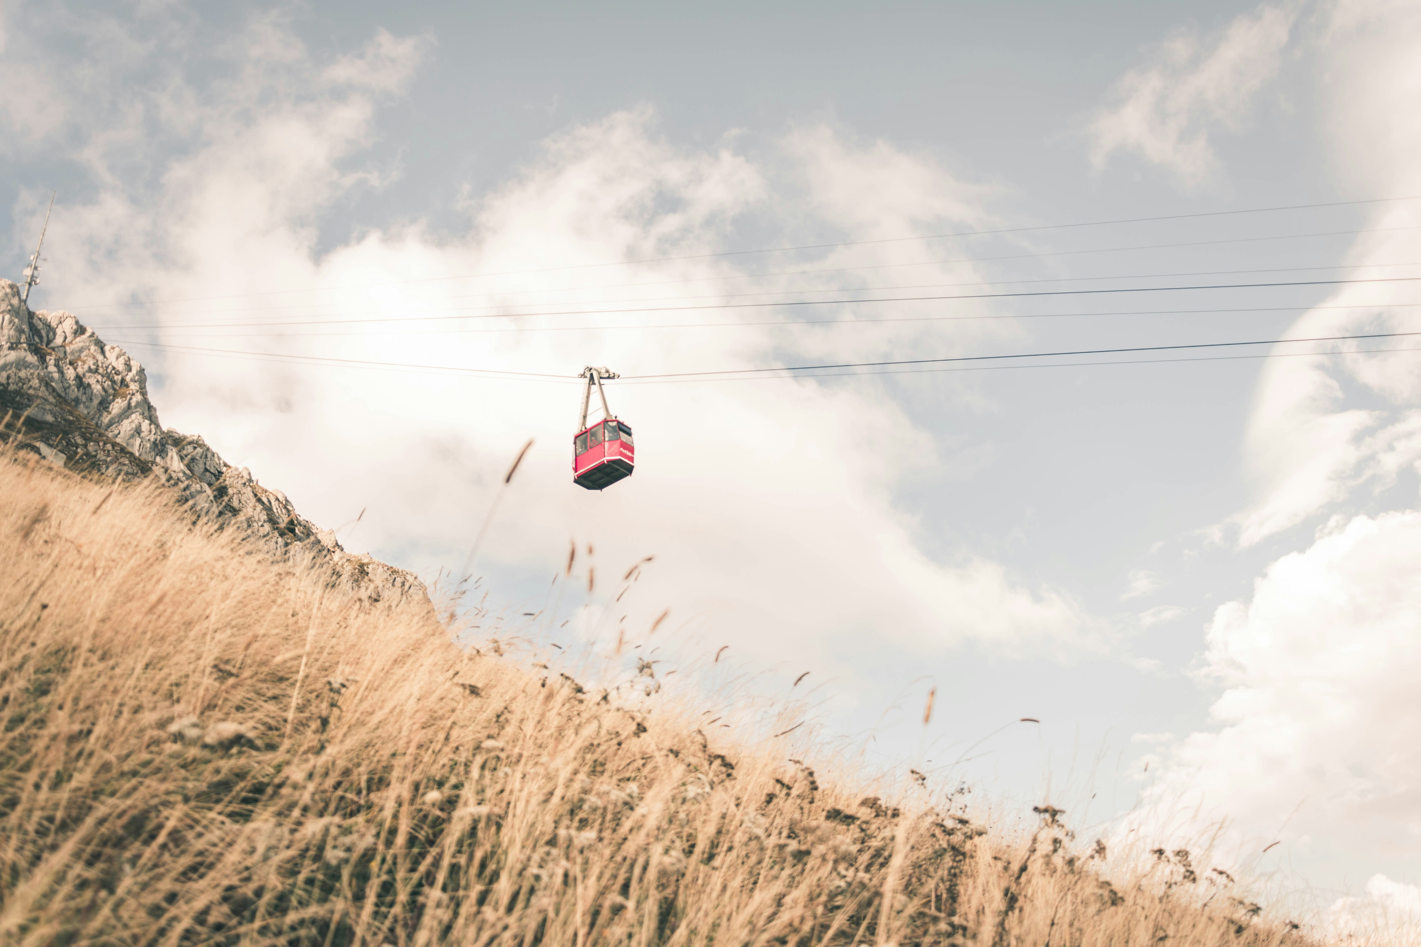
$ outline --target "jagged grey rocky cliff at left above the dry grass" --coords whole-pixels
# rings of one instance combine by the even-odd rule
[[[17,440],[18,450],[91,476],[156,477],[198,515],[250,534],[273,554],[301,548],[330,561],[371,601],[428,599],[412,572],[351,555],[202,437],[165,430],[142,365],[68,312],[31,312],[9,280],[0,280],[0,439]]]

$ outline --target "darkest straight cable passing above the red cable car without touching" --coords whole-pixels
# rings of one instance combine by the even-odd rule
[[[1206,285],[1161,285],[1161,287],[1113,287],[1101,290],[1027,290],[1017,292],[961,292],[955,295],[905,295],[905,297],[871,297],[867,300],[787,300],[783,302],[715,302],[703,305],[649,305],[618,310],[553,310],[549,312],[512,312],[486,315],[415,315],[415,317],[368,317],[358,319],[283,319],[280,322],[203,322],[175,327],[169,322],[146,325],[122,325],[125,329],[166,329],[166,328],[253,328],[263,325],[367,325],[372,322],[436,322],[446,319],[499,319],[514,315],[620,315],[625,312],[701,312],[706,310],[763,310],[770,307],[800,307],[800,305],[845,305],[864,302],[944,302],[949,300],[1016,300],[1043,295],[1103,295],[1117,292],[1184,292],[1191,290],[1266,290],[1280,287],[1316,287],[1316,285],[1349,285],[1364,283],[1415,283],[1421,277],[1366,277],[1351,280],[1292,280],[1276,283],[1215,283]],[[594,327],[595,328],[595,327]]]

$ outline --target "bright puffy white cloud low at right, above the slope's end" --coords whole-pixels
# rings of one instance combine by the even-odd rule
[[[1148,816],[1228,819],[1238,856],[1304,835],[1421,855],[1418,557],[1421,513],[1354,517],[1221,606],[1199,670],[1219,728],[1172,748]]]

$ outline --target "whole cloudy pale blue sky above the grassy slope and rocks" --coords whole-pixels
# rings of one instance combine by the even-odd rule
[[[777,706],[817,684],[826,733],[884,767],[1037,717],[953,778],[1093,831],[1202,812],[1221,859],[1343,913],[1421,897],[1411,355],[622,382],[638,473],[604,496],[567,483],[576,386],[311,361],[1410,331],[1404,281],[1161,290],[1421,275],[1418,202],[1346,203],[1421,195],[1404,4],[20,4],[0,43],[10,270],[58,189],[37,305],[131,348],[165,423],[350,547],[455,568],[536,437],[480,552],[510,611],[593,544],[603,586],[558,633],[671,608],[674,660],[729,643]],[[1140,217],[1167,219],[1019,230]],[[676,311],[1101,288],[1131,291]]]

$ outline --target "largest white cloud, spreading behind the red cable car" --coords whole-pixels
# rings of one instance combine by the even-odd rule
[[[279,21],[261,20],[230,44],[229,55],[246,57],[240,81],[148,88],[165,104],[166,125],[142,136],[128,126],[99,128],[90,155],[104,172],[131,163],[138,149],[158,170],[142,186],[101,175],[109,183],[97,199],[63,210],[51,257],[64,264],[51,267],[50,291],[63,270],[68,298],[188,300],[136,312],[75,307],[109,336],[168,345],[567,376],[587,363],[628,375],[742,368],[787,352],[843,361],[917,345],[928,329],[612,329],[718,318],[618,314],[625,302],[617,301],[628,297],[712,302],[782,285],[745,277],[733,258],[603,264],[715,251],[737,216],[767,202],[820,230],[872,219],[901,233],[983,216],[972,187],[882,142],[860,145],[833,129],[791,133],[779,170],[807,190],[784,196],[767,183],[776,169],[729,145],[679,148],[639,109],[551,139],[522,173],[468,202],[462,233],[435,239],[415,221],[317,256],[323,213],[378,183],[375,172],[345,169],[377,136],[377,94],[408,82],[421,48],[381,34],[358,67],[372,68],[378,81],[323,82],[352,75],[355,60],[318,62]],[[874,261],[872,253],[855,261]],[[597,267],[576,268],[585,264]],[[550,266],[573,268],[530,273]],[[513,275],[450,278],[470,273]],[[966,266],[932,273],[971,274]],[[574,310],[605,304],[608,314],[477,318],[482,307],[530,300]],[[418,321],[456,312],[468,321]],[[296,315],[399,321],[183,327]],[[155,317],[169,325],[121,328]],[[574,328],[510,331],[553,327]],[[979,338],[973,332],[1002,331],[973,327],[935,345],[965,346]],[[918,653],[963,643],[1056,656],[1103,647],[1106,629],[1069,595],[1032,588],[968,549],[951,562],[924,554],[911,513],[892,497],[901,476],[935,463],[935,449],[872,379],[615,385],[612,407],[637,430],[638,471],[605,494],[588,494],[568,483],[576,386],[134,351],[161,373],[165,423],[200,432],[318,522],[337,525],[368,507],[355,542],[426,571],[462,561],[507,459],[536,437],[485,542],[483,565],[547,582],[573,535],[595,545],[605,589],[610,576],[657,554],[641,598],[630,596],[590,635],[615,636],[621,620],[645,629],[669,603],[678,620],[699,619],[716,643],[753,643],[762,660],[793,656],[847,670],[850,643],[868,635],[880,649]]]

